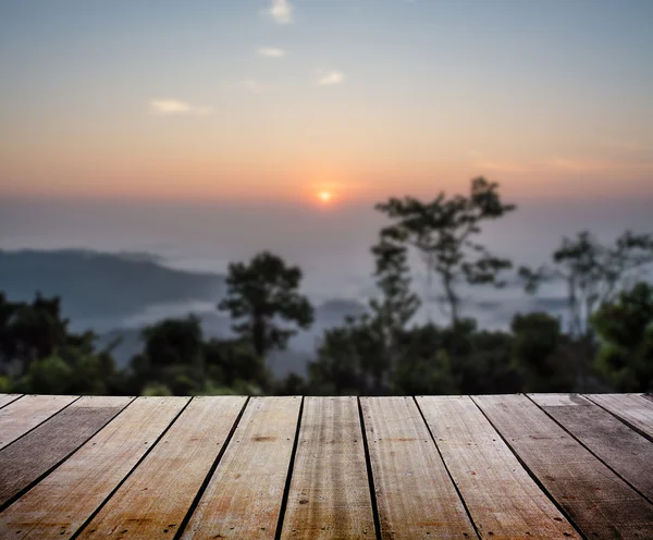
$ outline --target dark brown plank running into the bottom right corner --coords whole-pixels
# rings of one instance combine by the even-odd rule
[[[528,397],[473,400],[586,537],[650,538],[653,505]]]

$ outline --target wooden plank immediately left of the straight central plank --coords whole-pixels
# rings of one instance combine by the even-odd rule
[[[273,539],[300,397],[254,397],[182,536]]]

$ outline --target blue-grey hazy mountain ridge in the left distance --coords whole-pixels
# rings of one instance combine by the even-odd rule
[[[59,295],[73,326],[122,319],[152,304],[217,302],[224,275],[167,268],[156,255],[87,249],[0,250],[0,291],[29,300]],[[99,329],[98,329],[99,330]]]

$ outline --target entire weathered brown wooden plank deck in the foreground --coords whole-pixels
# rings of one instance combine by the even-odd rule
[[[0,394],[0,538],[650,539],[651,426],[643,395]]]

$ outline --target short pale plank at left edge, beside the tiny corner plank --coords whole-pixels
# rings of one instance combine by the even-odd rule
[[[70,405],[76,395],[26,395],[0,409],[0,449]]]

